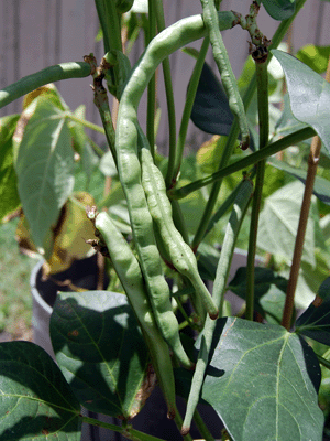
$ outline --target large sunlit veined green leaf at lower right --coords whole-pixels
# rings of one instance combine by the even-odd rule
[[[233,440],[321,440],[319,384],[316,355],[297,335],[279,325],[218,321],[201,398]]]

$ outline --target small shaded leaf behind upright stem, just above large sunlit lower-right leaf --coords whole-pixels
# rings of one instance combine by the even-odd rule
[[[248,267],[238,269],[228,289],[246,299]],[[280,323],[285,303],[287,280],[268,268],[254,268],[254,302],[257,311],[268,323]]]

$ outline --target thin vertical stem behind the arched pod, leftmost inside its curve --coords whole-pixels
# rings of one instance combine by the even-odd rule
[[[156,35],[156,15],[154,11],[154,0],[148,0],[148,33],[147,44]],[[156,76],[151,77],[147,85],[147,108],[146,108],[146,137],[150,151],[155,157],[155,107],[156,107]]]

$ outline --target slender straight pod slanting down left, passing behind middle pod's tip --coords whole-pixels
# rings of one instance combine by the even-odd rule
[[[235,241],[249,202],[251,200],[252,192],[253,192],[252,182],[245,180],[242,187],[240,189],[239,194],[235,197],[233,209],[231,212],[229,223],[227,225],[221,255],[216,273],[215,288],[213,288],[213,299],[219,306],[220,313],[222,313],[226,284],[230,271],[232,256],[234,252]],[[196,370],[194,373],[191,381],[190,394],[187,402],[187,410],[184,419],[184,424],[182,428],[182,433],[184,435],[187,434],[190,430],[190,423],[200,397],[200,391],[205,378],[205,372],[209,363],[209,354],[211,349],[215,329],[216,329],[216,322],[207,318],[206,325],[202,331],[200,351],[198,354]]]

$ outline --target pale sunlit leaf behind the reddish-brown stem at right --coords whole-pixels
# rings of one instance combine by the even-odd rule
[[[304,184],[292,182],[265,200],[260,216],[257,246],[267,252],[293,258],[298,228]],[[304,244],[302,260],[315,265],[315,220],[309,216]]]

